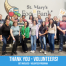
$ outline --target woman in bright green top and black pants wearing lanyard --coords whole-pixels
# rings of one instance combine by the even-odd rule
[[[25,53],[27,53],[27,51],[28,51],[28,48],[27,48],[27,45],[26,45],[26,42],[27,42],[27,40],[29,38],[29,31],[30,31],[28,25],[29,24],[28,24],[27,21],[24,22],[24,26],[21,29],[21,35],[22,35],[22,42],[21,42],[21,44],[22,44],[22,50]]]

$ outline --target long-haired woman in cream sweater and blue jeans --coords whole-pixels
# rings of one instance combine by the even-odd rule
[[[48,26],[48,40],[51,53],[54,53],[54,41],[56,39],[56,25],[53,23],[53,19],[50,19]]]

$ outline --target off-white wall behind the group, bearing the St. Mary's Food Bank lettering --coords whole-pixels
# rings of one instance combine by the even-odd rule
[[[0,0],[0,14],[3,15],[3,19],[7,15],[5,8],[4,8],[4,2],[5,0]],[[64,0],[8,0],[8,3],[11,6],[15,6],[19,8],[19,13],[22,14],[22,11],[25,10],[25,13],[32,12],[35,6],[43,6],[43,9],[37,9],[38,11],[41,12],[42,19],[44,20],[45,17],[48,15],[48,11],[51,13],[52,17],[53,16],[58,16],[59,11],[61,8],[64,8]],[[30,5],[32,9],[27,9],[27,5]],[[47,8],[47,9],[46,9]],[[44,13],[44,15],[42,14]],[[29,15],[26,16],[26,19],[29,19]]]

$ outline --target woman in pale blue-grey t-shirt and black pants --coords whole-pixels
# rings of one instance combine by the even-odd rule
[[[18,41],[19,41],[19,37],[20,37],[20,29],[19,26],[17,26],[17,21],[13,22],[13,26],[10,29],[10,34],[11,37],[13,39],[13,48],[12,48],[12,53],[11,55],[17,54],[17,45],[18,45]]]

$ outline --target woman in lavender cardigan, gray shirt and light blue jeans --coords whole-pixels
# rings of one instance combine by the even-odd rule
[[[37,21],[34,20],[31,28],[31,53],[36,51],[36,39],[38,39],[38,26]]]

